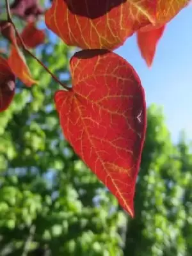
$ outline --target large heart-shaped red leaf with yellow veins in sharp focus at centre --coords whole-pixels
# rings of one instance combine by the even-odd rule
[[[140,79],[127,61],[105,50],[77,52],[70,69],[72,90],[54,97],[65,138],[133,217],[146,129]]]

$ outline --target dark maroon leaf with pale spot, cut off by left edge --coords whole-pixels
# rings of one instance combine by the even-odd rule
[[[8,62],[0,56],[0,112],[10,106],[15,95],[15,75]]]

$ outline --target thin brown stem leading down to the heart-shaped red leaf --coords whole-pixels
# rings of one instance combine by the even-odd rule
[[[26,47],[26,45],[24,44],[24,41],[22,40],[22,38],[21,38],[19,32],[17,31],[17,28],[15,27],[15,24],[14,24],[14,22],[13,22],[13,20],[12,20],[12,15],[11,15],[11,11],[10,11],[9,0],[6,0],[6,12],[7,12],[7,20],[8,20],[8,22],[10,22],[10,23],[12,24],[13,28],[15,29],[15,33],[16,33],[17,37],[18,37],[19,40],[20,40],[20,44],[21,44],[21,46],[22,46],[22,49],[23,49],[24,51],[26,51],[32,58],[34,58],[40,65],[42,65],[42,67],[44,67],[44,69],[51,75],[52,79],[54,79],[54,81],[56,81],[56,83],[61,84],[61,86],[62,86],[65,90],[69,91],[70,88],[68,88],[66,84],[61,83],[61,81],[60,81],[56,76],[54,76],[54,74],[52,74],[52,72],[49,70],[49,68],[47,68],[47,67],[44,65],[44,63],[42,63],[42,61],[38,60],[38,58],[36,58],[36,56],[35,56],[32,52],[30,52],[29,49],[28,49],[28,47]]]

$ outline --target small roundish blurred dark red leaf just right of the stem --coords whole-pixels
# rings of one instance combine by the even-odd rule
[[[35,22],[29,22],[20,36],[28,48],[35,48],[44,43],[45,31],[37,29]]]

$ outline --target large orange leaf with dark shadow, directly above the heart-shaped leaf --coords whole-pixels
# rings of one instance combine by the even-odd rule
[[[68,45],[115,49],[155,16],[154,0],[53,0],[45,23]]]

